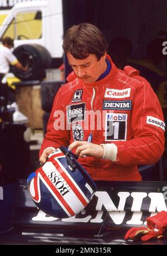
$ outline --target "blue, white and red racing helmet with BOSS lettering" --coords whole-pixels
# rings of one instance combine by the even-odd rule
[[[37,207],[55,218],[81,212],[95,194],[96,185],[76,156],[60,147],[28,177],[28,191]]]

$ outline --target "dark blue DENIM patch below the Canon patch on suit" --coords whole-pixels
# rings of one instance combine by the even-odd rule
[[[102,109],[116,109],[116,110],[130,110],[131,100],[118,101],[115,100],[104,100]]]

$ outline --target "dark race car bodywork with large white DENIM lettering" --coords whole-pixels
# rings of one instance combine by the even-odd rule
[[[134,226],[145,226],[146,218],[167,210],[164,181],[99,181],[97,191],[84,210],[71,218],[48,216],[33,203],[26,180],[19,180],[12,230],[3,232],[2,244],[148,244],[125,241]],[[5,218],[5,217],[4,217]],[[167,244],[151,240],[149,244]]]

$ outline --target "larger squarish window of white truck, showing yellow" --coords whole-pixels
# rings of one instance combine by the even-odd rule
[[[19,12],[16,15],[16,39],[38,39],[42,36],[42,15],[40,11]]]

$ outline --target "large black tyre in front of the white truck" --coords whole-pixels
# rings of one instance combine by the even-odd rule
[[[45,78],[45,69],[51,66],[51,55],[41,45],[20,45],[14,49],[13,54],[28,71],[11,67],[11,72],[21,80],[42,80]]]

